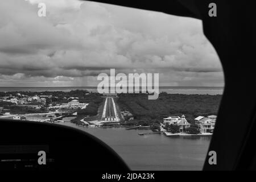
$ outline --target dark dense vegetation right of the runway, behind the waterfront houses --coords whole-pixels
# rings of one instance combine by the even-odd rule
[[[137,125],[153,125],[171,115],[184,114],[194,124],[199,115],[217,115],[221,95],[188,95],[160,93],[157,100],[148,100],[147,94],[118,94],[121,110],[129,110]],[[126,125],[129,122],[125,122]]]

